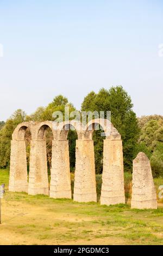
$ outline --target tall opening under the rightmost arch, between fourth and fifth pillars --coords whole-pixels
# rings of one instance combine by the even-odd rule
[[[101,198],[102,173],[103,173],[103,149],[104,139],[106,138],[104,129],[99,123],[92,123],[85,132],[86,138],[93,139],[95,154],[95,173],[96,173],[96,192],[97,202]]]

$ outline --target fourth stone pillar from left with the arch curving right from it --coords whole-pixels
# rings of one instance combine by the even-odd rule
[[[109,121],[108,121],[109,122]],[[94,119],[84,126],[82,139],[76,142],[76,172],[74,180],[74,200],[77,202],[97,202],[95,153],[92,140],[96,124],[103,126],[109,133],[109,125],[105,119]]]

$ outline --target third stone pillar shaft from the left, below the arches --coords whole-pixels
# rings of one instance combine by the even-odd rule
[[[53,141],[49,195],[52,198],[71,198],[70,157],[67,139]]]

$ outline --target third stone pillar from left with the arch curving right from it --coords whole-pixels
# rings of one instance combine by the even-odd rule
[[[71,177],[70,177],[70,157],[67,135],[70,127],[77,131],[78,138],[82,139],[81,124],[77,121],[64,121],[58,126],[53,124],[57,132],[57,139],[53,141],[53,157],[51,170],[50,197],[72,198]],[[53,126],[53,129],[54,129]]]

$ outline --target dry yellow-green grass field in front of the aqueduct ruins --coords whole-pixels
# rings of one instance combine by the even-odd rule
[[[0,184],[7,192],[2,199],[0,245],[162,245],[163,208],[130,209],[75,203],[69,199],[28,196],[8,191],[9,171],[0,170]],[[97,175],[98,198],[101,175]],[[126,196],[130,199],[131,177],[125,174]],[[158,188],[162,179],[156,179]],[[72,175],[73,184],[73,175]],[[159,201],[161,203],[161,200]]]

